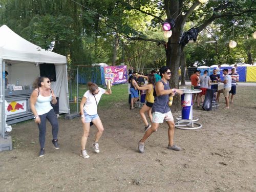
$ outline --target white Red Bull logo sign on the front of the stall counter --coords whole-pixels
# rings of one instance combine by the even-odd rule
[[[27,111],[26,99],[8,102],[7,115],[18,114]]]

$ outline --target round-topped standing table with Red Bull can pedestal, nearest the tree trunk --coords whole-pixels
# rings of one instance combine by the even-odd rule
[[[192,94],[201,93],[202,90],[188,90],[183,89],[184,94],[181,95],[182,112],[181,116],[177,117],[178,122],[175,123],[175,127],[181,130],[196,130],[202,128],[202,124],[197,121],[199,118],[193,118],[193,102]]]

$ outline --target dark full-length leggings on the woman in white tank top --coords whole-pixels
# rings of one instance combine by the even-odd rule
[[[53,139],[57,139],[57,137],[58,137],[59,125],[58,125],[57,117],[56,117],[53,109],[51,109],[48,113],[39,115],[39,117],[41,119],[41,123],[38,124],[39,142],[40,142],[41,148],[45,148],[45,142],[46,142],[46,119],[48,119],[48,121],[52,125],[52,137],[53,137]]]

